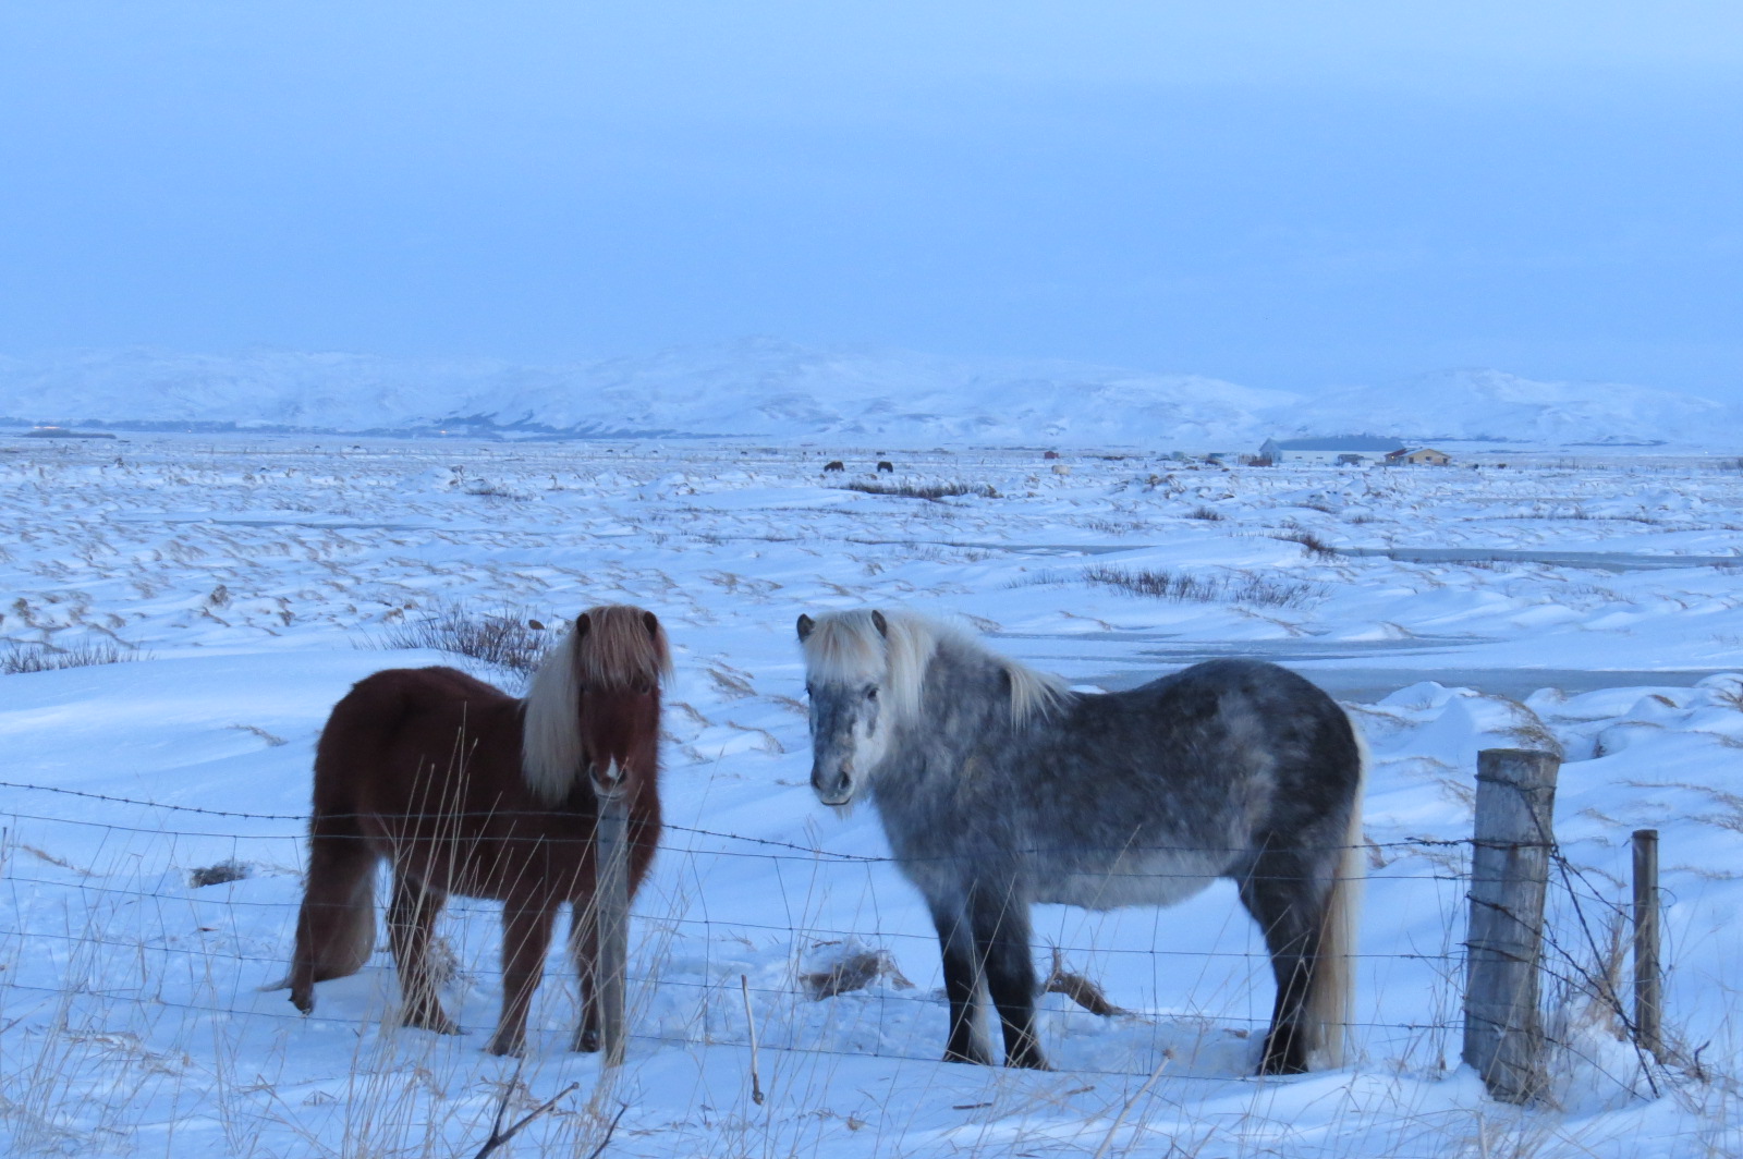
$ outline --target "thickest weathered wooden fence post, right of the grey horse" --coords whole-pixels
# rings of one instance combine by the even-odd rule
[[[1502,748],[1476,755],[1464,1061],[1492,1096],[1509,1103],[1543,1089],[1537,962],[1558,769],[1551,753]]]

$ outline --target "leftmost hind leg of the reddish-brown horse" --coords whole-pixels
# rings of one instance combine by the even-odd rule
[[[305,1014],[317,981],[356,974],[375,952],[376,861],[354,817],[315,817],[289,976],[291,1002]]]

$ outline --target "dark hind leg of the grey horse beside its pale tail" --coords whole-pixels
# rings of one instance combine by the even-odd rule
[[[1241,880],[1241,901],[1265,934],[1278,979],[1258,1074],[1302,1074],[1316,1046],[1316,1028],[1306,1025],[1304,1013],[1319,969],[1325,889],[1316,884],[1309,857],[1262,852]]]

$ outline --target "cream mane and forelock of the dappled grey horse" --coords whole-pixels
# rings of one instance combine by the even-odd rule
[[[882,613],[885,631],[880,633],[872,615],[870,608],[819,615],[800,645],[805,671],[821,680],[875,681],[885,709],[896,720],[913,720],[920,715],[926,669],[939,645],[948,645],[983,655],[1004,669],[1011,681],[1013,725],[1046,716],[1065,699],[1065,680],[999,655],[959,627],[913,612],[887,610]]]

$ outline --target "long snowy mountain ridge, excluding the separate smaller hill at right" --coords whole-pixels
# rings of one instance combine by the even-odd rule
[[[0,417],[64,424],[1196,444],[1251,441],[1255,415],[1297,401],[1190,375],[770,340],[573,366],[153,350],[0,361]]]

